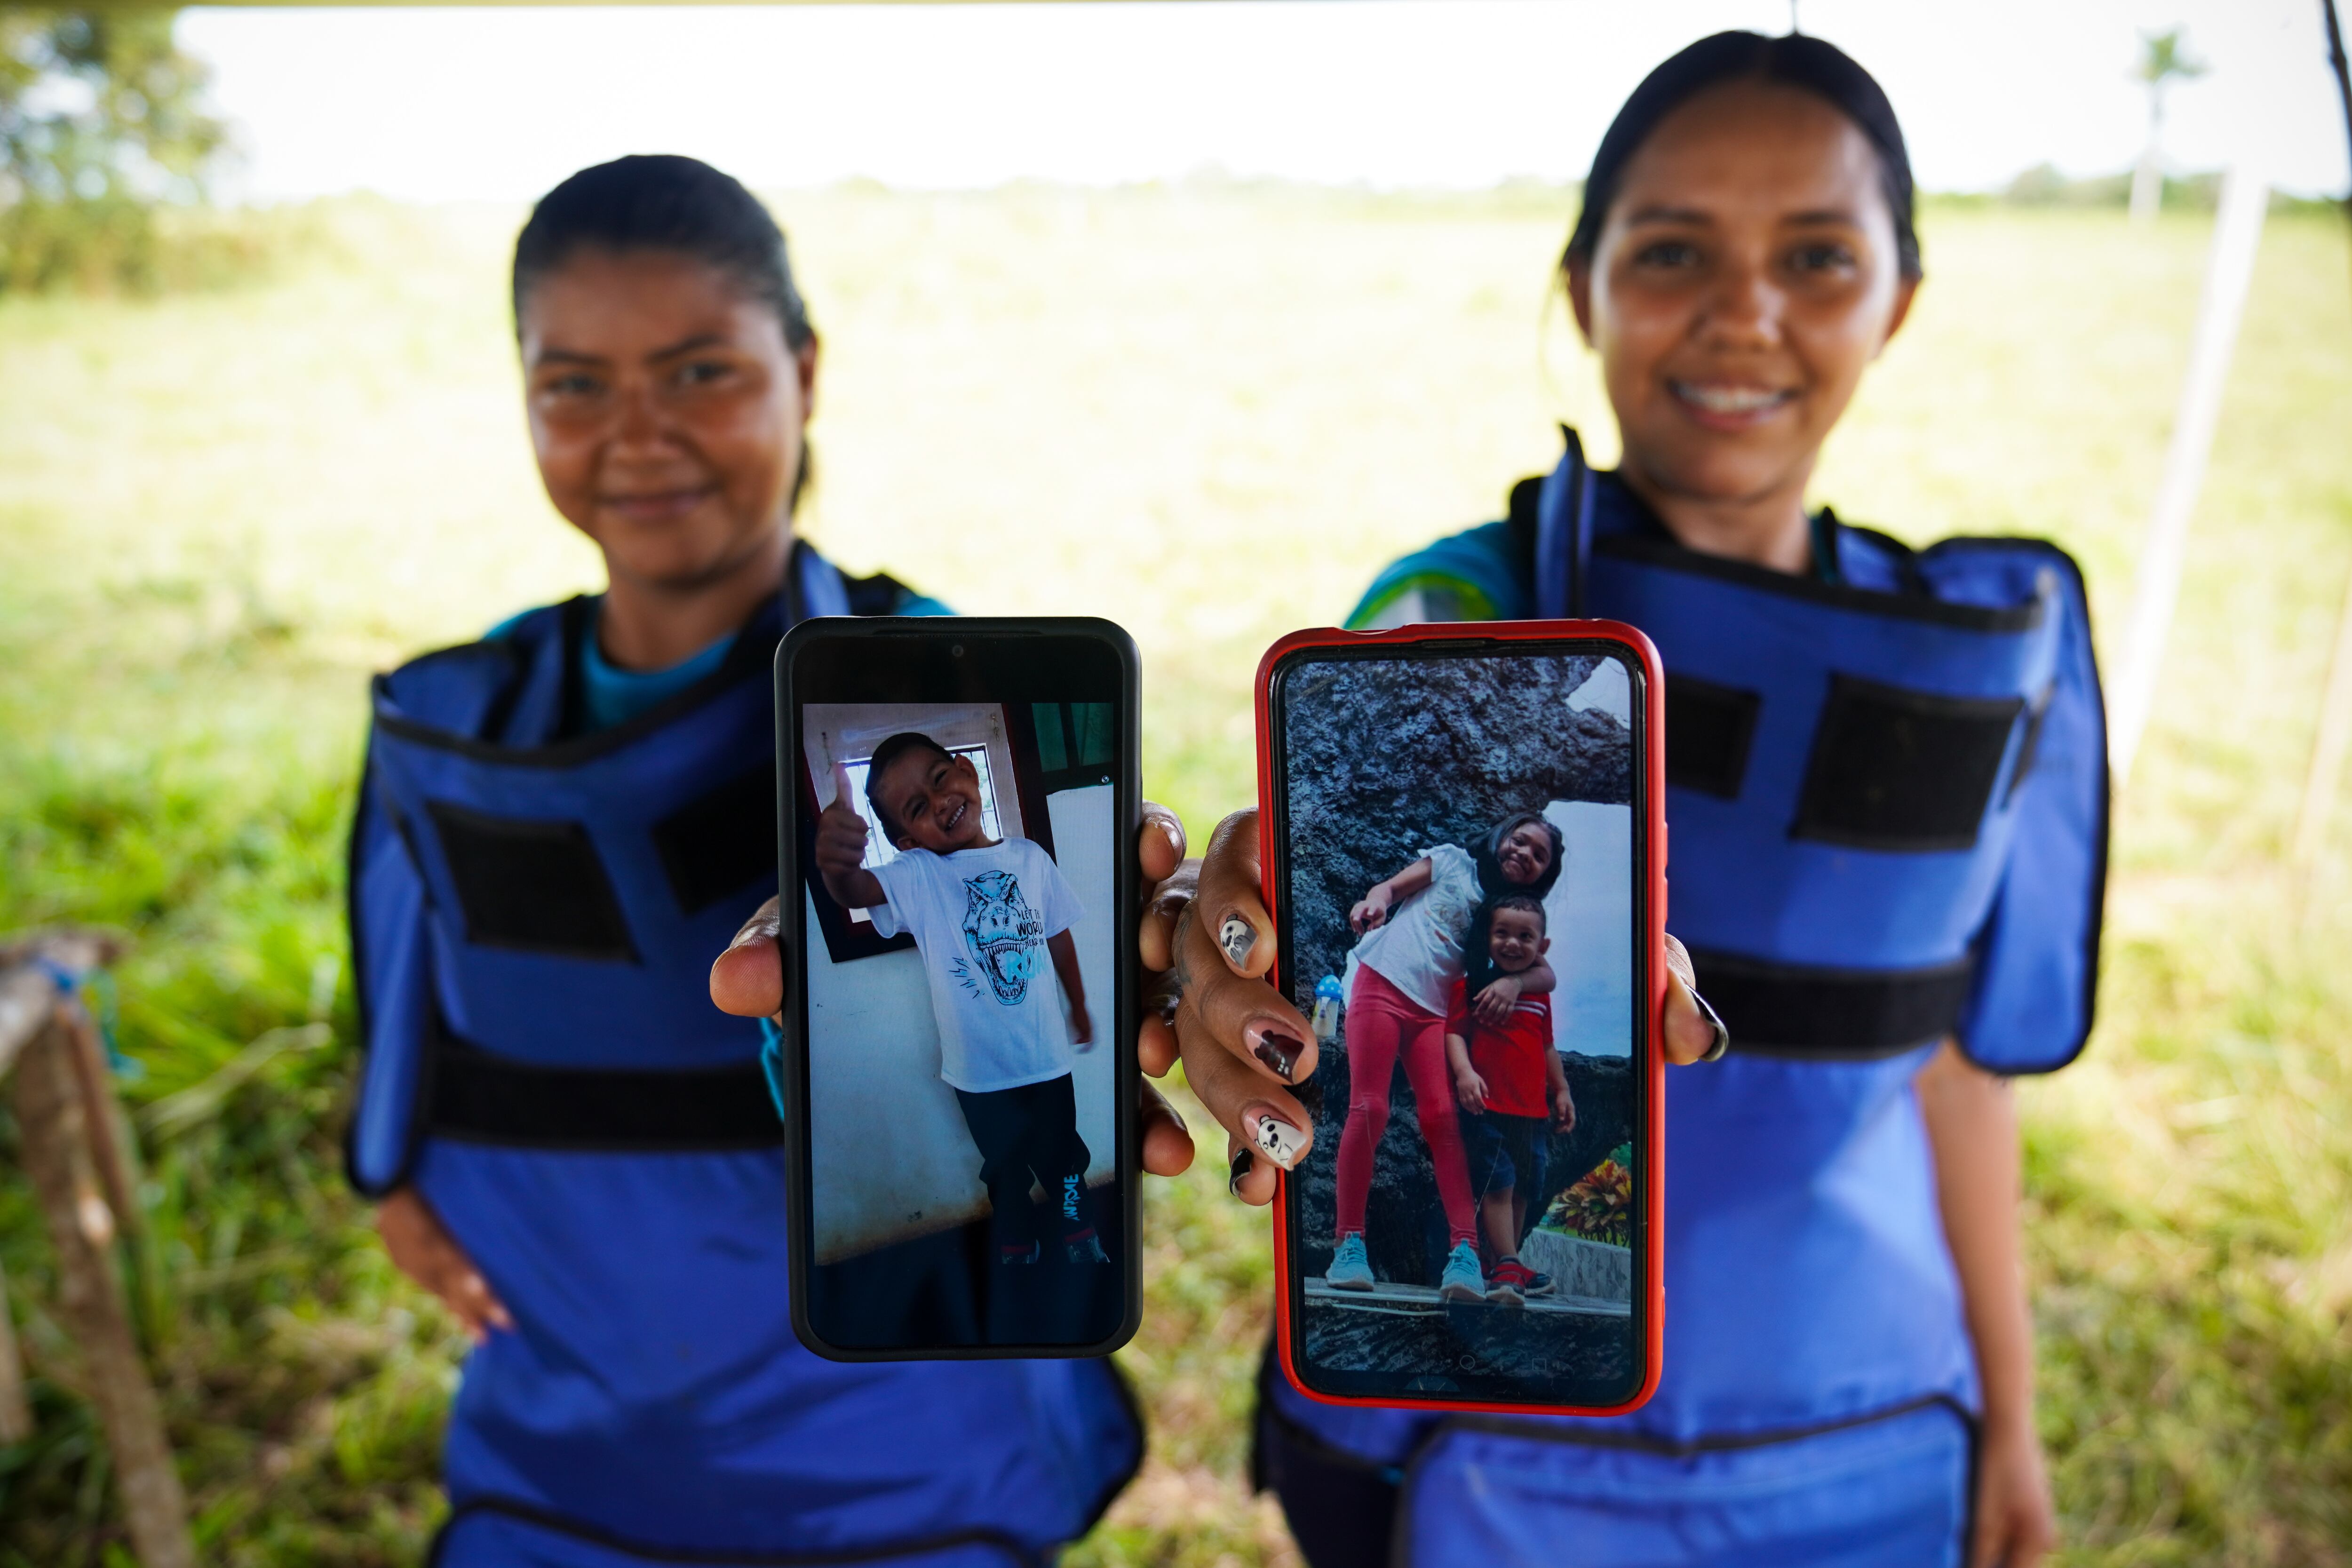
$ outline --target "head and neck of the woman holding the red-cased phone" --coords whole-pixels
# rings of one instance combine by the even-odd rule
[[[1919,289],[1910,160],[1837,49],[1693,92],[1710,66],[1677,56],[1625,103],[1562,268],[1625,487],[1696,550],[1804,571],[1820,442]]]

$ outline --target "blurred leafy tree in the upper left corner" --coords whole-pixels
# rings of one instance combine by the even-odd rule
[[[205,197],[226,136],[174,16],[0,9],[0,292],[155,284],[155,209]]]

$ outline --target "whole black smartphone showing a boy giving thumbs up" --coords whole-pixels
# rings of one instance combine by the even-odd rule
[[[793,1307],[821,1354],[1131,1333],[1134,712],[1108,623],[818,621],[779,654]]]

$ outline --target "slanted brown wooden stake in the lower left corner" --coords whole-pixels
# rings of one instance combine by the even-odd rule
[[[61,1001],[16,1063],[24,1164],[56,1246],[59,1309],[89,1361],[89,1401],[106,1427],[132,1549],[146,1568],[195,1568],[188,1497],[115,1279],[113,1213],[89,1171],[89,1119],[73,1053],[73,1004]]]

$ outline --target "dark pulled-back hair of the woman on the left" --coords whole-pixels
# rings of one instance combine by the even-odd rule
[[[816,341],[776,219],[743,181],[699,158],[614,158],[539,197],[515,237],[515,336],[522,336],[522,301],[532,287],[583,249],[691,256],[771,308],[793,353]],[[795,505],[807,484],[809,447],[802,442]]]

